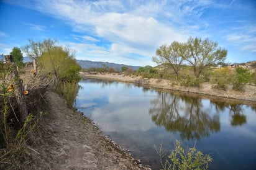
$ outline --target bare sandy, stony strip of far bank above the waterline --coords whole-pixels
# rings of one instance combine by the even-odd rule
[[[256,86],[246,85],[244,92],[232,90],[230,85],[227,91],[212,89],[211,83],[203,83],[201,87],[178,86],[175,81],[167,79],[142,79],[141,76],[125,76],[124,74],[88,74],[80,72],[84,78],[108,79],[111,81],[122,81],[136,83],[145,87],[152,87],[164,91],[181,92],[186,95],[196,95],[202,98],[218,102],[235,102],[240,104],[256,105]]]

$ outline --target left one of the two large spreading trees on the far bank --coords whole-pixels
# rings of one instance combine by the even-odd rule
[[[155,52],[157,56],[153,56],[152,60],[158,65],[164,65],[172,68],[176,79],[184,60],[185,45],[179,42],[172,42],[171,45],[162,45]]]

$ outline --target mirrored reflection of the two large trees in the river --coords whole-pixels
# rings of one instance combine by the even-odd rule
[[[201,99],[159,92],[149,114],[169,132],[180,132],[182,140],[200,139],[220,130],[219,115],[204,110]]]

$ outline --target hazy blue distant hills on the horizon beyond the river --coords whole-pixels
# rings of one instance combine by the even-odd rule
[[[103,65],[105,65],[108,68],[114,68],[114,69],[119,69],[123,66],[126,66],[128,68],[132,68],[134,70],[137,70],[140,68],[140,66],[129,66],[129,65],[120,65],[116,63],[109,63],[109,62],[103,62],[103,61],[88,61],[88,60],[76,60],[76,63],[78,63],[81,68],[103,68]]]

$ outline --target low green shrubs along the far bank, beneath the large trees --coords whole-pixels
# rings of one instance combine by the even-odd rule
[[[255,62],[256,63],[256,62]],[[175,74],[171,69],[164,69],[160,66],[144,66],[137,71],[131,68],[124,69],[125,71],[102,71],[101,68],[83,69],[89,74],[124,74],[126,76],[141,76],[142,79],[168,79],[172,82],[171,85],[184,87],[200,87],[202,83],[211,83],[213,89],[221,89],[226,91],[229,85],[235,91],[244,91],[245,84],[252,86],[256,85],[256,68],[247,66],[209,66],[204,69],[199,78],[193,75],[193,68],[191,66],[182,66],[179,73],[179,78],[175,78]],[[113,70],[111,68],[111,70]],[[128,71],[127,71],[128,70]]]

